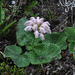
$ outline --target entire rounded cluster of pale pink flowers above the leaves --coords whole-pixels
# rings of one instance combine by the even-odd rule
[[[44,22],[44,18],[34,18],[31,17],[29,21],[26,21],[24,24],[26,27],[25,31],[34,31],[35,38],[40,37],[42,40],[45,40],[44,34],[51,33],[49,22]]]

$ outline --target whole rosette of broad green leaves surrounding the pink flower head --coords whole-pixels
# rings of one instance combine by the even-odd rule
[[[25,46],[25,53],[18,46],[6,46],[4,54],[10,57],[14,63],[19,67],[25,67],[31,64],[45,64],[50,62],[54,57],[61,58],[61,50],[66,49],[66,35],[64,32],[45,34],[45,40],[40,38],[35,39],[34,48],[32,43],[34,41],[33,32],[24,31],[24,23],[27,19],[19,20],[16,39],[20,46]]]

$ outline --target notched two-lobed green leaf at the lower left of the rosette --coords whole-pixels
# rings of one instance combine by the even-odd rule
[[[25,67],[29,65],[29,60],[26,54],[22,54],[20,47],[11,45],[6,46],[4,54],[6,57],[10,57],[14,63],[19,67]]]

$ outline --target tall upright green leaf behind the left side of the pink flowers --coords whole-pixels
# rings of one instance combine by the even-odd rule
[[[25,18],[20,19],[17,27],[16,37],[17,37],[17,43],[20,46],[28,45],[29,43],[31,43],[34,37],[33,32],[24,31],[24,28],[26,27],[24,26],[24,23],[26,21],[27,19]]]

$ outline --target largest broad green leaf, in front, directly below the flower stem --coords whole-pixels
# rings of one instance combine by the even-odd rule
[[[54,44],[41,44],[28,53],[31,64],[45,64],[56,57],[61,50]]]

